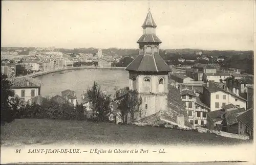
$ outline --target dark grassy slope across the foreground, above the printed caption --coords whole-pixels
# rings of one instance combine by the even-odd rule
[[[22,119],[1,126],[1,145],[22,144],[234,145],[243,140],[215,134],[86,121]]]

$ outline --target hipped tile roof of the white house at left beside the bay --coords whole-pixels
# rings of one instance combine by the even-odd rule
[[[30,77],[13,80],[11,88],[39,88],[41,81]]]

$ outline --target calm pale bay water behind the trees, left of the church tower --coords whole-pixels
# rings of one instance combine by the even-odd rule
[[[71,89],[76,92],[78,103],[81,102],[82,91],[87,92],[93,81],[101,86],[102,91],[114,95],[115,86],[123,88],[129,84],[129,73],[120,69],[72,69],[35,77],[42,82],[41,96],[60,95],[61,91]]]

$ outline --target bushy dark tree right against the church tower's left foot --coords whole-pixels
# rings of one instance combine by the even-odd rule
[[[141,104],[142,99],[138,97],[136,90],[129,90],[126,93],[125,97],[119,101],[123,123],[128,123],[128,115],[130,115],[131,123],[134,122],[136,113],[139,112],[139,107]]]

